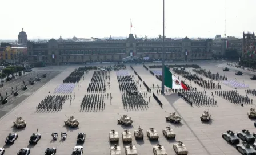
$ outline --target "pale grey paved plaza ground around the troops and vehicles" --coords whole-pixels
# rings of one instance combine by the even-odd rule
[[[186,63],[167,63],[167,64],[186,64]],[[230,71],[222,71],[223,67],[226,67],[225,62],[187,62],[187,64],[198,64],[201,68],[210,70],[213,73],[219,73],[225,75],[228,80],[237,80],[241,83],[248,84],[249,88],[237,88],[238,93],[246,96],[246,89],[255,89],[256,84],[254,80],[250,79],[253,72],[243,71],[242,76],[235,75],[237,68],[229,67]],[[113,64],[98,64],[98,66],[110,66]],[[145,64],[146,66],[153,64]],[[159,63],[161,65],[161,63]],[[256,100],[254,96],[248,95],[250,99],[253,99],[253,104],[244,104],[242,107],[239,104],[233,104],[229,101],[222,99],[215,95],[213,90],[204,90],[199,85],[191,82],[192,87],[196,87],[197,91],[206,91],[206,95],[211,96],[211,92],[214,94],[214,100],[217,100],[217,105],[202,105],[202,106],[190,106],[183,99],[181,99],[177,93],[167,93],[166,95],[157,94],[156,85],[161,87],[161,81],[155,76],[150,74],[143,65],[132,64],[134,70],[141,76],[151,88],[151,93],[147,92],[146,87],[138,76],[134,74],[130,64],[126,64],[126,70],[130,75],[135,76],[135,81],[139,81],[137,84],[139,92],[147,92],[147,96],[144,97],[146,102],[149,102],[147,108],[133,108],[124,109],[121,98],[121,91],[119,91],[119,85],[116,72],[110,71],[110,86],[107,85],[105,94],[111,93],[113,99],[110,101],[110,97],[106,97],[104,103],[105,108],[98,109],[97,111],[81,111],[80,105],[84,95],[96,94],[95,92],[87,92],[87,88],[93,76],[95,70],[89,71],[85,74],[85,79],[81,79],[79,83],[75,85],[74,91],[71,93],[73,97],[71,103],[67,100],[60,111],[54,112],[37,112],[36,106],[41,103],[48,95],[53,95],[54,90],[62,84],[62,81],[69,76],[75,68],[79,68],[82,65],[74,66],[54,66],[44,68],[33,68],[33,72],[17,79],[17,81],[11,81],[7,83],[5,87],[0,88],[1,94],[5,95],[6,91],[11,87],[21,85],[23,80],[29,80],[37,74],[47,74],[45,79],[41,79],[35,83],[35,85],[28,85],[27,91],[19,91],[20,95],[16,98],[11,97],[10,101],[5,105],[0,105],[0,147],[5,148],[5,155],[17,154],[19,149],[30,148],[30,154],[43,155],[46,148],[57,148],[57,153],[60,155],[69,155],[72,153],[72,148],[77,144],[77,134],[79,132],[86,133],[85,143],[81,144],[84,149],[83,154],[95,154],[103,155],[110,154],[109,132],[114,129],[119,134],[119,146],[121,146],[122,154],[125,154],[125,148],[127,144],[122,142],[122,132],[128,129],[132,133],[133,145],[137,147],[138,154],[151,155],[153,154],[153,146],[161,144],[165,147],[167,154],[174,155],[173,143],[182,141],[187,146],[187,150],[190,155],[239,155],[240,153],[235,149],[235,146],[230,145],[222,138],[222,133],[227,130],[233,130],[234,132],[247,129],[251,133],[256,132],[254,127],[254,120],[251,120],[247,116],[247,111],[250,107],[255,107]],[[84,65],[83,65],[84,66]],[[87,65],[89,66],[89,65]],[[93,66],[93,65],[92,65]],[[187,71],[191,73],[193,68],[187,68]],[[149,70],[161,70],[161,68],[149,68]],[[193,72],[194,73],[194,72]],[[194,73],[195,74],[195,73]],[[185,81],[186,79],[179,76],[179,80]],[[199,75],[201,76],[201,75]],[[204,77],[205,80],[210,80]],[[109,79],[108,79],[109,80]],[[235,90],[228,85],[223,84],[221,81],[214,81],[221,84],[221,90]],[[159,88],[160,89],[160,88]],[[10,91],[9,91],[10,92]],[[49,93],[50,92],[50,93]],[[160,107],[157,101],[153,98],[153,92],[161,100],[163,106]],[[69,94],[70,95],[70,94]],[[106,95],[107,96],[107,95]],[[150,96],[150,101],[149,101]],[[202,123],[199,117],[204,110],[211,113],[212,120],[209,123]],[[183,120],[181,124],[172,124],[166,121],[165,116],[168,116],[170,112],[177,112]],[[119,115],[128,115],[134,120],[131,127],[123,127],[117,124]],[[17,117],[22,117],[27,126],[24,129],[15,129],[13,127],[13,121]],[[67,117],[74,116],[80,122],[78,128],[65,127],[64,121]],[[134,130],[138,127],[143,129],[144,140],[136,141],[134,137]],[[176,133],[175,140],[167,140],[163,136],[162,130],[170,126]],[[149,128],[155,128],[159,134],[158,141],[150,141],[146,136],[146,130]],[[42,134],[41,140],[36,145],[29,145],[29,138],[33,133]],[[53,141],[51,133],[59,133],[57,141]],[[67,133],[65,141],[61,141],[61,132]],[[5,138],[9,133],[18,133],[18,139],[13,145],[5,145]]]

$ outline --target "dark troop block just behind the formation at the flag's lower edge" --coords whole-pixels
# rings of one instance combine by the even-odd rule
[[[205,89],[221,89],[221,85],[214,83],[213,80],[204,80],[203,77],[198,76],[197,74],[183,74],[183,78],[194,81],[195,84],[205,88]]]

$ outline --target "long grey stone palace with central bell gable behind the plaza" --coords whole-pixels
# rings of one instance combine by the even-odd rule
[[[166,60],[205,60],[212,57],[212,40],[169,39],[165,42]],[[162,59],[162,42],[137,40],[133,34],[126,40],[95,40],[70,42],[50,39],[48,42],[27,42],[27,58],[30,63],[46,64],[121,62],[133,55],[135,58]]]

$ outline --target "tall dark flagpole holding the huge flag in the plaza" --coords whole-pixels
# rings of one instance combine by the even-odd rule
[[[162,93],[165,93],[165,0],[163,0]]]

